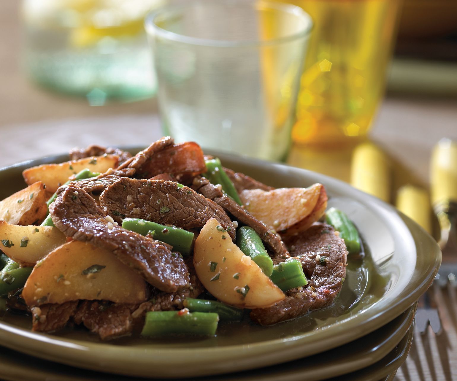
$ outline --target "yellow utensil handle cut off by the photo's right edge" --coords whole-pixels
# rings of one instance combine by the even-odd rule
[[[457,143],[442,139],[433,149],[430,165],[433,206],[457,202]]]

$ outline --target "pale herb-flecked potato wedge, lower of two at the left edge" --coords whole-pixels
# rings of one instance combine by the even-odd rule
[[[0,221],[0,249],[22,266],[33,266],[64,244],[66,237],[52,226],[19,226]]]

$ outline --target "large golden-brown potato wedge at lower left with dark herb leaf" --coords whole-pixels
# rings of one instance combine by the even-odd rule
[[[49,253],[33,268],[22,297],[29,307],[71,300],[142,303],[146,282],[110,251],[71,241]]]

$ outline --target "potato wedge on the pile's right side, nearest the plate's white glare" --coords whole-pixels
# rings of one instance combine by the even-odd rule
[[[265,191],[243,190],[241,200],[255,218],[281,232],[307,217],[319,199],[322,184],[309,188],[279,188]]]

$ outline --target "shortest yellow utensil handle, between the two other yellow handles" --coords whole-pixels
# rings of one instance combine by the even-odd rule
[[[397,192],[397,209],[431,234],[430,197],[425,189],[404,185]]]

